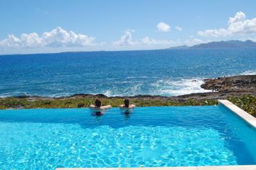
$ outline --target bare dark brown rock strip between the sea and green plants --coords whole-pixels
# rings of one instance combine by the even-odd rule
[[[177,97],[163,97],[157,95],[136,95],[134,97],[107,97],[103,94],[91,95],[91,94],[76,94],[70,97],[36,97],[36,96],[19,96],[12,97],[17,99],[26,99],[29,101],[36,100],[63,100],[67,98],[130,98],[136,100],[174,100],[177,102],[186,102],[188,100],[216,100],[226,99],[228,97],[237,97],[241,95],[253,95],[256,96],[256,75],[237,75],[232,77],[218,77],[216,79],[205,79],[201,88],[212,90],[212,92],[206,93],[191,93],[189,95],[180,95]],[[6,97],[10,98],[10,97]]]

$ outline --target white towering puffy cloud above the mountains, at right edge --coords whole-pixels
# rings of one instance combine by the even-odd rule
[[[256,18],[246,20],[243,12],[237,12],[234,17],[228,19],[228,27],[220,29],[207,29],[198,31],[200,36],[228,36],[228,35],[248,35],[256,33]]]

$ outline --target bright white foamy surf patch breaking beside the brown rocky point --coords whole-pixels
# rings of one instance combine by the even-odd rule
[[[190,93],[204,93],[211,90],[201,88],[203,79],[180,79],[173,81],[171,79],[159,80],[152,84],[152,95],[179,96]]]

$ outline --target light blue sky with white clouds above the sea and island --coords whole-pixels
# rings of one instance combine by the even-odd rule
[[[255,0],[0,1],[0,54],[256,41]]]

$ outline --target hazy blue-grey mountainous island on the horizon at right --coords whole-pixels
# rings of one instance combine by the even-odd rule
[[[246,40],[245,42],[239,40],[221,41],[221,42],[209,42],[200,43],[191,47],[187,45],[181,45],[177,47],[170,47],[168,49],[221,49],[221,48],[256,48],[256,42]]]

